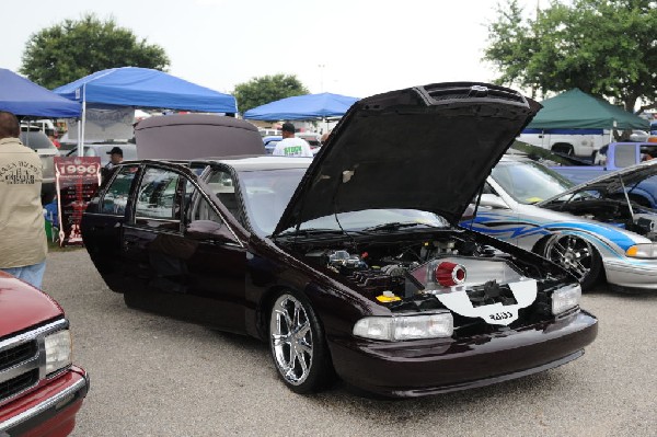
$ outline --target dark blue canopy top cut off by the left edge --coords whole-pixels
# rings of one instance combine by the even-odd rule
[[[0,68],[0,111],[38,117],[79,117],[80,103],[71,102],[43,87]]]

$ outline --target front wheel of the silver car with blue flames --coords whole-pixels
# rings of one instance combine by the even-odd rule
[[[591,243],[572,234],[556,234],[542,244],[543,256],[570,272],[581,290],[591,288],[602,273],[602,260]]]

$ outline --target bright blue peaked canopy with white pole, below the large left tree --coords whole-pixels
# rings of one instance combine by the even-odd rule
[[[232,95],[187,82],[163,71],[138,67],[96,71],[59,87],[54,92],[64,97],[82,102],[80,145],[84,140],[88,103],[206,113],[234,114],[238,112],[238,104]]]

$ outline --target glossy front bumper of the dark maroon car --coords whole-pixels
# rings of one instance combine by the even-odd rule
[[[518,330],[471,336],[387,343],[330,342],[337,373],[348,383],[389,396],[419,396],[483,387],[561,366],[584,353],[597,319],[577,311]]]

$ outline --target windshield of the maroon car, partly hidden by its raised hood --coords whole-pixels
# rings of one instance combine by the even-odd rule
[[[251,226],[260,235],[270,235],[301,182],[306,169],[241,172],[241,188]],[[301,223],[301,230],[361,231],[392,225],[448,228],[449,222],[433,212],[416,209],[365,209],[320,217]],[[383,231],[385,229],[382,229]],[[295,229],[286,229],[285,232]]]

